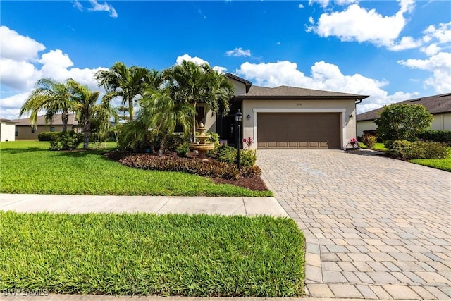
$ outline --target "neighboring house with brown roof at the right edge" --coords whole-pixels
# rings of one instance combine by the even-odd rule
[[[451,93],[409,99],[397,104],[422,104],[433,116],[431,130],[451,130]],[[364,130],[376,130],[375,119],[379,118],[382,108],[357,115],[357,135],[362,136]]]

